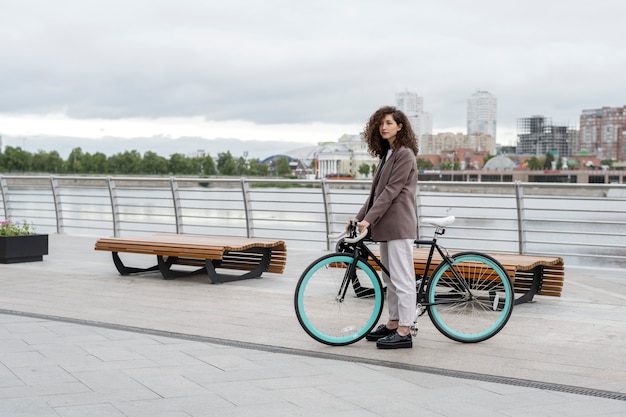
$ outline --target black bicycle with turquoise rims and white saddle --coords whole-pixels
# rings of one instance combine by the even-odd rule
[[[433,325],[448,338],[476,343],[495,336],[513,311],[514,293],[504,267],[480,252],[450,255],[437,243],[454,216],[424,218],[435,226],[432,239],[417,239],[430,246],[424,276],[416,272],[417,313],[411,326],[417,334],[417,319],[425,311]],[[311,263],[300,276],[294,294],[296,316],[302,328],[318,342],[344,346],[367,335],[383,311],[385,289],[377,269],[388,273],[367,246],[367,231],[357,235],[352,222],[347,237],[337,242],[335,253]],[[429,271],[435,251],[440,264]],[[352,289],[353,294],[348,291]]]

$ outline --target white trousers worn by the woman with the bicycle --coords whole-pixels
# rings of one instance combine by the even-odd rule
[[[380,243],[380,260],[389,270],[389,276],[383,273],[389,320],[398,320],[399,326],[412,326],[415,321],[413,242],[413,239],[397,239]]]

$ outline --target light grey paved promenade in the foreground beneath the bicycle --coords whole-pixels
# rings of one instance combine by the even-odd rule
[[[293,289],[319,253],[210,285],[121,277],[95,241],[51,235],[43,262],[0,265],[0,416],[626,415],[619,270],[566,266],[561,298],[516,306],[486,342],[424,316],[413,349],[380,351],[299,327]]]

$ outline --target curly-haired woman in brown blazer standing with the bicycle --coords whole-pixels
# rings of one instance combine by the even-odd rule
[[[380,162],[370,196],[356,220],[359,233],[369,227],[372,240],[380,242],[381,261],[389,270],[389,275],[383,274],[389,317],[366,339],[376,341],[381,349],[411,348],[417,303],[413,267],[417,141],[406,115],[390,106],[381,107],[370,117],[364,140],[370,154]]]

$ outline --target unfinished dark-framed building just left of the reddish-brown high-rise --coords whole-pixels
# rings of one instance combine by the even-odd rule
[[[578,131],[557,126],[543,116],[517,119],[517,152],[522,155],[570,156],[576,152]]]

